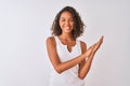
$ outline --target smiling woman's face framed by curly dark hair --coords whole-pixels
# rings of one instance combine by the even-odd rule
[[[70,33],[74,29],[74,18],[69,12],[63,12],[60,17],[60,27],[62,32]]]

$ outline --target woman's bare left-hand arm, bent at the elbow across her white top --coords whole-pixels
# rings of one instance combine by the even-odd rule
[[[48,51],[49,58],[57,73],[62,73],[63,71],[78,64],[80,61],[86,59],[86,57],[89,56],[89,54],[91,53],[91,49],[90,49],[88,51],[88,53],[79,55],[74,59],[70,59],[65,62],[61,62],[56,52],[56,43],[54,41],[54,38],[52,37],[47,39],[47,51]]]

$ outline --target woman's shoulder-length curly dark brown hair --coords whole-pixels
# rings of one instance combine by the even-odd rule
[[[63,12],[69,12],[72,14],[74,22],[75,22],[74,24],[75,29],[72,31],[72,34],[74,39],[77,39],[83,33],[84,24],[81,20],[79,13],[72,6],[65,6],[57,13],[53,22],[52,28],[51,28],[52,34],[60,35],[62,33],[62,29],[60,27],[58,22],[60,22],[61,14]]]

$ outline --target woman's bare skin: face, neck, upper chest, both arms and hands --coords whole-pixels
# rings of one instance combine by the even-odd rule
[[[76,40],[72,37],[72,31],[75,24],[72,14],[69,12],[63,12],[58,23],[62,29],[62,34],[58,35],[58,39],[64,45],[67,45],[68,52],[72,52],[72,47],[76,44]],[[62,73],[74,66],[79,64],[78,77],[83,80],[90,70],[93,57],[102,43],[103,37],[87,49],[87,44],[81,41],[80,46],[82,54],[64,62],[61,62],[56,52],[55,39],[53,37],[49,37],[47,39],[47,51],[49,58],[57,73]]]

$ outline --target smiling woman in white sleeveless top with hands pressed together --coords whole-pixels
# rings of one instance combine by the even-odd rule
[[[47,51],[52,63],[50,86],[83,86],[95,52],[103,37],[87,49],[84,42],[77,40],[83,32],[83,23],[78,12],[65,6],[57,13],[52,34],[47,39]]]

